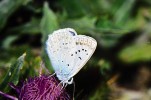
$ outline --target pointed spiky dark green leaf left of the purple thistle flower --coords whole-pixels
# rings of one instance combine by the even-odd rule
[[[14,84],[18,83],[19,79],[19,73],[22,69],[24,58],[26,56],[26,53],[24,53],[22,56],[20,56],[16,62],[14,62],[8,72],[6,73],[3,81],[0,84],[0,90],[7,91],[8,90],[8,83],[12,82]]]

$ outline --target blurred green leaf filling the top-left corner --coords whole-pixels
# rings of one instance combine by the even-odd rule
[[[29,0],[2,0],[0,2],[0,30],[5,26],[9,16]]]

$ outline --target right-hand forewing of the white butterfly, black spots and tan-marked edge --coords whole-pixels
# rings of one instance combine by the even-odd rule
[[[77,35],[76,40],[76,54],[74,59],[74,67],[69,74],[69,77],[73,77],[79,70],[86,64],[94,53],[97,42],[93,38],[85,35]]]

